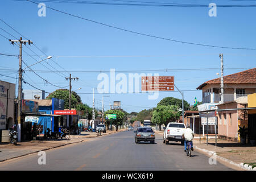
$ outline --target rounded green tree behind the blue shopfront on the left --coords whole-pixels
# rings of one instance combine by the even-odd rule
[[[51,100],[52,98],[59,98],[64,100],[64,109],[69,109],[69,90],[68,89],[58,89],[50,93],[46,99]],[[71,108],[76,108],[77,98],[74,94],[71,94]]]

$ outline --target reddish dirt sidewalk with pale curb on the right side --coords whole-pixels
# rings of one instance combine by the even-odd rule
[[[163,131],[155,131],[155,133],[163,135]],[[217,138],[216,147],[215,135],[208,135],[208,144],[206,135],[204,137],[201,135],[201,143],[199,142],[199,135],[196,135],[193,139],[193,146],[195,150],[203,152],[205,155],[216,154],[218,160],[241,169],[251,170],[251,168],[242,167],[243,164],[256,163],[256,146],[251,146],[251,144],[241,144]]]

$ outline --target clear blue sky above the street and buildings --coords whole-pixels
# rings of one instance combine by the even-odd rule
[[[150,2],[150,0],[148,1]],[[217,6],[218,4],[256,4],[254,1],[207,0],[159,2],[205,5],[214,2]],[[217,7],[217,16],[210,17],[208,7],[76,5],[50,2],[46,2],[46,6],[97,22],[163,38],[214,46],[256,48],[256,7]],[[180,90],[195,90],[203,82],[217,77],[216,73],[220,72],[219,53],[224,54],[224,75],[255,68],[256,65],[255,50],[224,49],[176,43],[131,34],[130,32],[57,13],[50,9],[46,9],[46,17],[39,17],[38,10],[37,5],[30,2],[7,0],[0,2],[1,19],[9,23],[20,34],[32,40],[47,55],[53,56],[52,60],[61,65],[62,68],[52,60],[42,62],[43,65],[62,72],[57,72],[57,74],[56,72],[37,72],[49,71],[42,64],[36,64],[31,68],[40,76],[58,86],[69,84],[65,77],[68,77],[69,72],[71,72],[72,77],[80,78],[79,81],[72,81],[72,90],[82,88],[77,93],[91,93],[93,87],[96,88],[100,82],[97,80],[100,72],[77,73],[72,71],[110,71],[110,68],[114,68],[116,71],[134,71],[132,73],[136,73],[135,71],[139,70],[166,68],[218,68],[201,71],[144,72],[159,73],[160,76],[174,76],[175,85]],[[16,38],[20,37],[18,33],[11,30],[3,22],[0,22],[0,27]],[[0,34],[15,39],[2,30],[0,30]],[[18,47],[12,46],[2,36],[0,36],[0,41],[0,53],[18,55]],[[46,57],[35,46],[27,47],[37,55],[42,56],[42,59]],[[27,47],[23,46],[23,50],[34,59],[40,60]],[[23,52],[23,61],[28,65],[35,63],[35,60],[27,53]],[[1,74],[16,77],[15,71],[6,69],[16,69],[18,71],[19,60],[16,57],[1,55],[0,60]],[[124,73],[127,75],[127,72]],[[23,78],[30,84],[47,92],[58,89],[55,86],[44,84],[43,80],[32,72],[27,71]],[[16,83],[14,78],[0,76],[0,79]],[[18,86],[16,89],[18,89]],[[23,89],[32,88],[30,85],[23,84]],[[80,96],[82,102],[92,106],[92,94],[80,94]],[[178,92],[159,93],[158,100],[148,100],[148,94],[141,93],[104,94],[104,96],[110,96],[104,97],[105,110],[109,109],[109,104],[112,104],[113,101],[121,101],[121,107],[128,112],[155,107],[164,97],[181,98]],[[193,104],[195,97],[201,101],[201,91],[184,92],[184,99],[190,104]],[[95,94],[95,98],[96,107],[101,109],[102,94]]]

